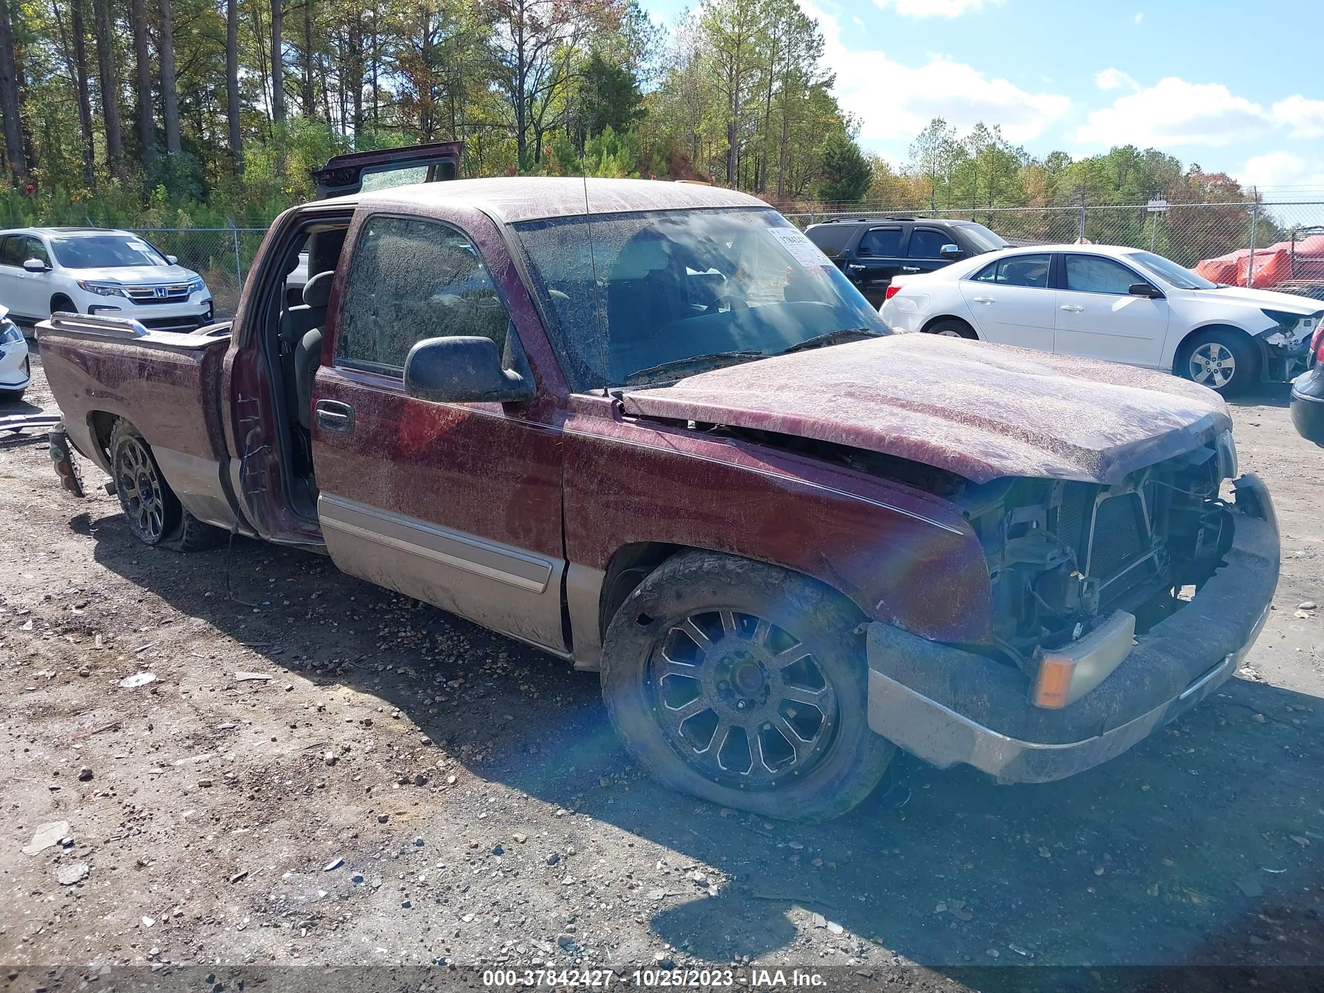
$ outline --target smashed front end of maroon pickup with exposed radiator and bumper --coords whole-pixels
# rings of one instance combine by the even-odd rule
[[[1046,782],[1120,755],[1227,679],[1278,583],[1272,502],[1229,434],[1106,486],[1004,479],[952,496],[984,545],[980,643],[867,628],[869,722],[933,765]]]

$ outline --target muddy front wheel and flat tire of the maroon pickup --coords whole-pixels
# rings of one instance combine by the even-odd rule
[[[683,552],[612,618],[602,696],[665,785],[820,822],[861,802],[895,747],[869,728],[859,613],[804,576]]]

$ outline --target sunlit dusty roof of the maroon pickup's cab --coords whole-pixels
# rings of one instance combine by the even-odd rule
[[[661,183],[647,179],[580,179],[579,176],[504,176],[418,183],[339,197],[364,207],[414,209],[429,204],[478,207],[504,224],[634,211],[685,211],[704,207],[768,207],[748,193],[722,187]],[[323,201],[323,203],[335,203]]]

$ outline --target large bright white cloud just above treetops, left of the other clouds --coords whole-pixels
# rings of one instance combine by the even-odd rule
[[[818,21],[825,42],[824,62],[837,73],[837,99],[843,110],[859,119],[859,136],[866,144],[908,142],[936,117],[945,118],[960,131],[978,120],[1001,124],[1008,140],[1029,142],[1071,106],[1067,97],[1029,93],[1009,79],[989,78],[951,56],[933,54],[925,65],[908,66],[880,50],[847,52],[833,15],[809,0],[800,0],[800,7]]]

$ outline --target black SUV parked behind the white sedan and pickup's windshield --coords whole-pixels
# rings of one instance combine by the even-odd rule
[[[875,307],[894,275],[932,273],[1008,246],[982,224],[932,217],[834,217],[809,225],[805,234]]]

